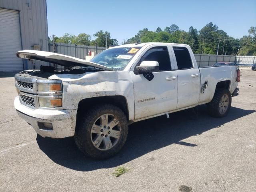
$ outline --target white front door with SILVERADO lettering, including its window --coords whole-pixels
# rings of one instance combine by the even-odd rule
[[[154,78],[149,81],[143,74],[132,74],[135,100],[135,119],[146,118],[175,110],[177,107],[178,79],[172,71],[170,48],[155,46],[149,48],[142,56],[142,61],[157,61],[159,71],[153,72]],[[137,65],[137,66],[138,66]]]

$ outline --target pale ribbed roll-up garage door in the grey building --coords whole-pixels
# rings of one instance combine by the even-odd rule
[[[21,50],[19,12],[0,9],[0,71],[23,70],[22,59],[16,57]]]

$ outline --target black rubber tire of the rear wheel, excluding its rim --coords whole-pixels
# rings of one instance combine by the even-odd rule
[[[219,110],[219,105],[220,105],[222,96],[224,96],[225,94],[228,96],[228,106],[226,108],[226,111],[221,113]],[[212,101],[208,104],[208,112],[213,117],[217,117],[217,118],[224,117],[228,114],[230,110],[231,102],[232,102],[232,97],[231,97],[230,91],[223,88],[217,88],[212,98]]]

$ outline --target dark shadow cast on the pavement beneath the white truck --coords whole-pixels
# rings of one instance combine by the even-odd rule
[[[91,171],[112,168],[136,159],[144,154],[171,144],[196,147],[196,144],[183,142],[185,138],[196,136],[208,130],[254,113],[255,110],[230,108],[224,118],[212,118],[207,114],[206,105],[199,106],[198,118],[191,109],[170,114],[170,118],[160,116],[134,123],[129,126],[126,144],[116,156],[108,160],[93,160],[85,157],[74,143],[74,138],[52,139],[37,136],[39,148],[55,163],[78,171]]]

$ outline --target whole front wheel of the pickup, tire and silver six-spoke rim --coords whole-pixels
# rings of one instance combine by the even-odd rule
[[[120,151],[128,135],[124,112],[112,104],[93,106],[78,120],[75,142],[86,155],[107,159]]]

